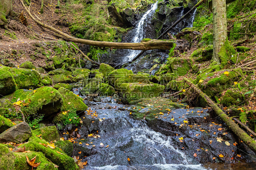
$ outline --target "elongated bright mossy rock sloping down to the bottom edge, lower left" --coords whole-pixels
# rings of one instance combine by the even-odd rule
[[[32,133],[31,137],[28,140],[28,143],[20,145],[20,147],[25,146],[26,150],[42,152],[44,156],[49,159],[52,163],[59,166],[59,169],[62,170],[79,170],[79,167],[75,164],[73,158],[66,155],[63,151],[61,151],[58,147],[55,149],[46,148],[44,145],[47,143],[44,140],[41,140],[39,137],[36,137],[34,133]],[[56,151],[63,153],[57,153]],[[31,167],[30,167],[31,168]]]

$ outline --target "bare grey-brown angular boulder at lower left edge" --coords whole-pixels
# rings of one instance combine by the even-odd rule
[[[1,133],[0,142],[14,142],[19,144],[26,141],[31,136],[31,133],[32,131],[28,123],[21,122]]]

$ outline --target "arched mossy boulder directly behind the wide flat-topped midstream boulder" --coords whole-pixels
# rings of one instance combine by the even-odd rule
[[[115,88],[119,90],[120,85],[122,83],[143,83],[143,84],[150,84],[149,78],[147,75],[136,75],[136,74],[128,74],[125,77],[117,78],[115,81]]]

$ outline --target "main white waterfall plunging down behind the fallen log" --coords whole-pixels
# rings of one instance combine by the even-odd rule
[[[135,36],[132,39],[133,43],[138,43],[144,38],[145,36],[145,32],[143,30],[144,21],[146,20],[146,18],[148,18],[148,16],[151,16],[153,13],[155,13],[157,8],[157,3],[158,1],[155,4],[152,4],[150,10],[148,10],[140,19],[135,29],[136,30]],[[140,53],[140,50],[129,50],[129,54],[127,55],[128,60],[132,60],[139,53]]]

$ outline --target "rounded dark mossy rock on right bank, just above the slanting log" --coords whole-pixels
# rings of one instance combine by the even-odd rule
[[[237,99],[239,99],[239,101],[237,101]],[[220,98],[220,103],[227,107],[237,105],[237,103],[241,101],[243,101],[243,95],[234,90],[227,90],[225,95]]]

